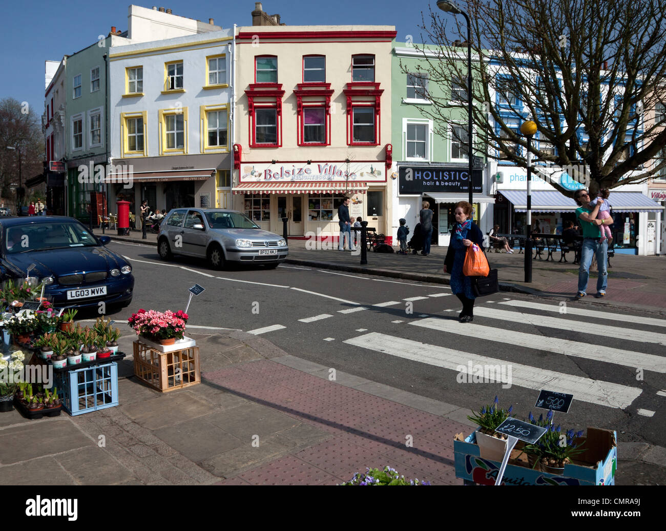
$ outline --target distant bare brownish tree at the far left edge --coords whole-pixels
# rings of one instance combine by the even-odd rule
[[[35,111],[13,98],[0,101],[0,187],[2,197],[14,199],[9,187],[19,183],[19,153],[7,147],[21,149],[25,187],[27,179],[43,171],[44,137]]]

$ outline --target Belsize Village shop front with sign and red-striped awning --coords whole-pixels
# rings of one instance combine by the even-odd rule
[[[234,209],[257,225],[290,237],[332,237],[336,241],[338,207],[350,197],[350,217],[368,220],[386,233],[386,177],[378,163],[284,163],[242,165],[233,187]],[[348,178],[346,178],[348,177]]]

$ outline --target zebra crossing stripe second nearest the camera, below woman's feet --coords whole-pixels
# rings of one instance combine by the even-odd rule
[[[478,308],[475,308],[476,312]],[[461,334],[464,336],[484,337],[488,341],[497,341],[516,346],[525,346],[535,350],[545,350],[555,352],[556,354],[565,354],[577,358],[588,360],[603,361],[614,363],[631,368],[641,367],[653,372],[666,372],[666,358],[655,356],[653,354],[643,354],[631,350],[621,350],[609,346],[597,344],[581,343],[570,341],[568,339],[559,339],[554,337],[539,336],[535,334],[525,334],[525,332],[514,332],[513,330],[503,330],[492,326],[482,326],[481,324],[462,323],[453,319],[428,318],[418,321],[412,321],[410,324],[439,330],[440,332],[449,332],[452,334]]]

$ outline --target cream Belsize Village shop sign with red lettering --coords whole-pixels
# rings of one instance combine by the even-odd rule
[[[241,183],[298,183],[303,181],[372,181],[385,182],[384,162],[376,163],[275,163],[244,164]]]

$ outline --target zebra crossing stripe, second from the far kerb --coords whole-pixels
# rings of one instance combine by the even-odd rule
[[[523,322],[525,324],[533,324],[534,326],[571,330],[571,332],[583,332],[584,334],[606,336],[607,338],[629,339],[631,341],[666,345],[666,334],[657,334],[657,332],[648,332],[647,330],[632,330],[631,328],[608,326],[606,324],[598,324],[597,322],[583,322],[579,320],[561,319],[530,313],[496,310],[494,308],[484,308],[483,306],[480,306],[474,310],[474,312],[478,316],[490,317],[492,319]],[[639,367],[641,365],[636,366]]]

